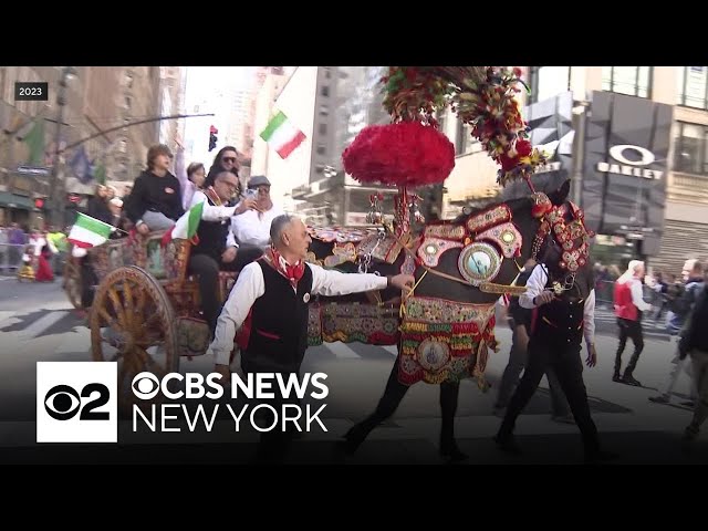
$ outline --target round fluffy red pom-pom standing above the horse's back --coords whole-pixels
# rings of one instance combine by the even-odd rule
[[[442,183],[455,167],[455,146],[418,122],[372,125],[342,154],[344,170],[361,183],[426,186]]]

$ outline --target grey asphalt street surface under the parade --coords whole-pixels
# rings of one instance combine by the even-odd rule
[[[506,321],[497,327],[501,347],[491,353],[487,376],[492,384],[482,393],[472,382],[460,387],[456,435],[466,461],[476,464],[577,464],[582,447],[573,425],[551,419],[545,378],[517,424],[522,457],[500,454],[491,437],[500,419],[492,415],[494,384],[508,361],[510,331]],[[643,387],[611,379],[616,339],[614,317],[597,315],[598,365],[585,368],[593,418],[607,449],[618,451],[621,464],[708,462],[708,444],[701,435],[690,452],[683,451],[680,436],[690,419],[686,375],[671,405],[647,398],[670,368],[670,344],[660,329],[647,326],[646,346],[635,376]],[[19,283],[0,277],[0,462],[249,462],[257,434],[235,433],[233,421],[221,416],[212,433],[134,434],[129,421],[119,426],[119,445],[38,445],[35,442],[35,363],[39,361],[90,361],[90,334],[54,283]],[[650,332],[650,333],[649,333]],[[624,354],[625,363],[632,354]],[[583,358],[585,352],[583,351]],[[438,388],[417,384],[410,388],[396,415],[374,430],[354,456],[344,456],[336,441],[353,423],[375,407],[391,372],[393,347],[358,343],[333,343],[310,348],[303,372],[327,374],[330,395],[321,418],[326,433],[304,434],[294,444],[291,461],[298,464],[440,464]],[[181,360],[180,372],[211,372],[212,360]],[[148,451],[149,449],[149,451]]]

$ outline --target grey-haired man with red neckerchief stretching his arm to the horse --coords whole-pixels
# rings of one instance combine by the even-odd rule
[[[287,381],[290,374],[299,374],[308,348],[308,306],[314,295],[344,295],[391,287],[403,290],[415,282],[408,274],[347,274],[305,263],[312,240],[304,223],[293,216],[273,219],[270,237],[272,248],[239,274],[209,347],[216,372],[226,381],[230,379],[229,356],[236,332],[244,322],[250,333],[241,353],[243,372],[280,373]],[[274,408],[279,410],[285,399],[274,387]],[[270,426],[271,421],[264,424]],[[260,457],[282,459],[290,438],[291,433],[280,433],[278,427],[263,431]]]

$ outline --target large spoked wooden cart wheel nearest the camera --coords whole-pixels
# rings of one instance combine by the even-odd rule
[[[98,285],[90,323],[93,360],[118,364],[119,412],[159,403],[162,393],[137,399],[132,384],[142,372],[159,379],[179,372],[175,312],[163,287],[137,266],[115,269]]]

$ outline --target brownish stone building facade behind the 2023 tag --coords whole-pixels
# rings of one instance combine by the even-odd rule
[[[46,82],[48,100],[15,101],[20,81]],[[147,147],[158,139],[159,123],[116,127],[157,116],[158,90],[159,67],[154,66],[0,67],[0,222],[27,228],[48,222],[55,163],[66,223],[73,222],[72,209],[94,194],[96,177],[133,180],[145,166]],[[35,124],[41,125],[37,135]],[[41,143],[41,160],[30,160],[29,136]],[[55,157],[58,147],[63,152]]]

